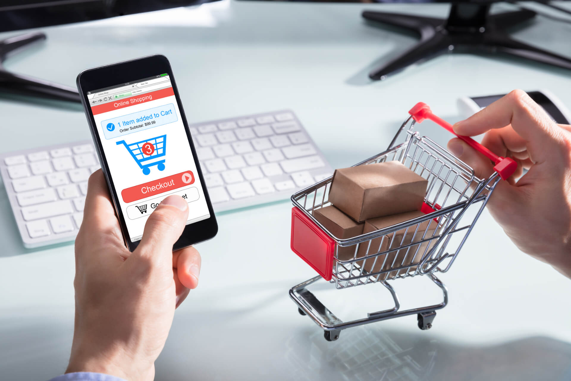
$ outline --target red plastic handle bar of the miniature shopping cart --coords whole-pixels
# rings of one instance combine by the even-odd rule
[[[517,163],[512,158],[502,158],[476,142],[474,139],[456,134],[452,129],[452,125],[444,119],[437,117],[435,114],[432,114],[430,107],[426,103],[416,103],[415,107],[412,107],[408,113],[411,114],[412,118],[418,123],[424,121],[424,119],[430,119],[462,139],[464,142],[468,143],[468,145],[473,149],[484,154],[488,159],[494,162],[494,171],[496,171],[503,180],[508,179],[516,171]]]

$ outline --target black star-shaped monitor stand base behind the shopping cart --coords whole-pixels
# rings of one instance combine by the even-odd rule
[[[448,19],[364,11],[370,21],[400,26],[420,34],[420,42],[400,57],[369,73],[371,79],[385,79],[413,63],[420,63],[449,51],[508,53],[532,61],[571,69],[571,59],[519,42],[505,31],[536,13],[529,10],[489,14],[490,4],[453,3]]]

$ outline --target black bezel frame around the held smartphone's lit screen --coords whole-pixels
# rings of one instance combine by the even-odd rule
[[[91,107],[87,102],[86,95],[87,91],[103,89],[110,86],[119,86],[122,83],[135,82],[139,81],[142,78],[153,77],[163,73],[168,73],[168,75],[170,75],[172,90],[174,91],[176,102],[178,103],[180,110],[180,119],[183,122],[184,130],[186,130],[188,144],[190,145],[192,157],[194,158],[196,165],[197,175],[200,179],[200,184],[202,185],[204,198],[206,198],[206,203],[208,204],[208,211],[210,212],[210,218],[188,224],[186,227],[184,227],[182,235],[180,235],[180,238],[175,242],[172,248],[172,250],[178,250],[179,248],[191,246],[192,244],[213,238],[218,232],[218,223],[216,223],[216,216],[214,215],[214,210],[212,210],[210,196],[208,195],[208,190],[206,189],[206,185],[204,183],[204,177],[202,170],[200,169],[198,157],[196,156],[194,142],[192,142],[190,130],[188,129],[188,123],[186,121],[186,115],[184,114],[178,88],[176,87],[175,78],[172,74],[172,68],[168,62],[168,59],[161,54],[148,55],[146,57],[135,58],[129,61],[111,63],[110,65],[83,70],[77,76],[77,87],[81,101],[83,103],[83,109],[85,110],[87,121],[89,122],[91,135],[93,136],[97,154],[99,155],[101,168],[103,170],[103,174],[105,175],[107,186],[110,189],[111,200],[113,202],[113,206],[115,207],[115,213],[119,219],[121,231],[123,232],[123,238],[129,251],[134,251],[135,248],[139,246],[140,240],[131,242],[131,236],[127,230],[127,224],[125,223],[125,217],[119,207],[120,203],[118,192],[115,189],[113,179],[111,178],[111,174],[109,172],[107,158],[103,151],[103,146],[101,144],[98,131],[96,130],[97,126],[95,124],[95,119],[93,117],[93,113],[91,112]],[[89,216],[87,216],[87,218],[89,218]]]

